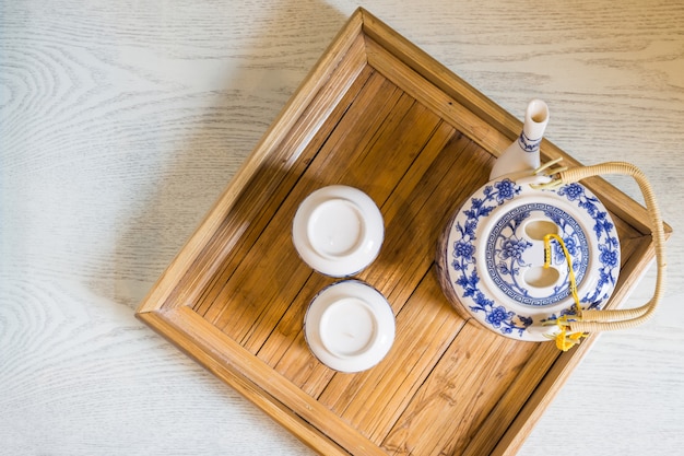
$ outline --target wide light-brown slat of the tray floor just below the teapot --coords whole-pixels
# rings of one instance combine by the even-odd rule
[[[461,454],[535,347],[464,326],[382,446],[390,454]]]

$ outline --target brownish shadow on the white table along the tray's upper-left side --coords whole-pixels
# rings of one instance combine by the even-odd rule
[[[168,148],[173,157],[160,159],[156,188],[117,239],[116,302],[137,308],[346,21],[319,0],[272,8],[272,14],[245,25],[253,38],[244,52],[215,51],[234,73],[186,102],[191,115],[179,128],[190,125],[194,131],[187,140],[176,136],[186,143]]]

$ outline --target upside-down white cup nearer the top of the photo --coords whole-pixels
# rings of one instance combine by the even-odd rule
[[[333,185],[310,194],[293,220],[292,237],[302,259],[331,277],[352,276],[378,255],[382,214],[357,188]]]

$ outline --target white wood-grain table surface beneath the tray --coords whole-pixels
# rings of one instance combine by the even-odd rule
[[[133,312],[357,5],[0,1],[0,454],[311,454]],[[601,336],[520,455],[683,454],[684,3],[363,5],[518,117],[544,98],[581,162],[651,178],[667,299]]]

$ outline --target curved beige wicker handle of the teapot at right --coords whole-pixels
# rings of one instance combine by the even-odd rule
[[[551,162],[543,166],[547,168]],[[644,173],[630,163],[625,162],[608,162],[593,166],[578,166],[574,168],[562,168],[558,171],[549,169],[547,173],[552,180],[549,184],[542,184],[540,187],[556,188],[562,185],[571,184],[591,176],[600,176],[605,174],[622,174],[632,176],[644,195],[646,209],[650,219],[651,235],[656,248],[656,261],[658,267],[658,277],[656,280],[656,291],[653,296],[646,304],[626,309],[616,311],[581,311],[578,318],[565,321],[564,324],[568,332],[586,334],[595,331],[606,331],[615,329],[626,329],[642,324],[649,319],[659,301],[661,300],[665,289],[665,234],[660,209],[656,201],[656,196]]]

